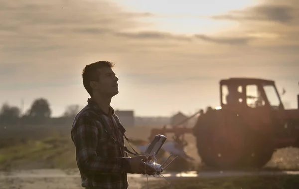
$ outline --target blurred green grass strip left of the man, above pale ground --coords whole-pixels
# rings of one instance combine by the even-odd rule
[[[0,169],[76,168],[74,154],[67,137],[28,139],[0,149]]]

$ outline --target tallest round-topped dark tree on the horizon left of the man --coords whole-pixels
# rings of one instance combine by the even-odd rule
[[[46,99],[38,98],[33,101],[31,108],[28,111],[28,117],[41,121],[50,118],[50,116],[50,104]]]

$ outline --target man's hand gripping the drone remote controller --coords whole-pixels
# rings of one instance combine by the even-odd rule
[[[147,175],[153,175],[154,169],[147,165],[145,162],[148,162],[148,159],[144,155],[136,156],[131,158],[130,160],[130,166],[132,172],[136,174],[147,174]]]

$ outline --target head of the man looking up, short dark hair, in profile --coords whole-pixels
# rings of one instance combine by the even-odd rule
[[[83,85],[91,97],[95,94],[113,97],[119,93],[118,78],[112,71],[113,66],[109,61],[98,61],[85,66],[82,72]]]

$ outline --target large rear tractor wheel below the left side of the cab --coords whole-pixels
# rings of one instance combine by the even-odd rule
[[[244,164],[247,127],[234,112],[222,109],[211,111],[197,125],[197,150],[209,167],[236,168]]]

